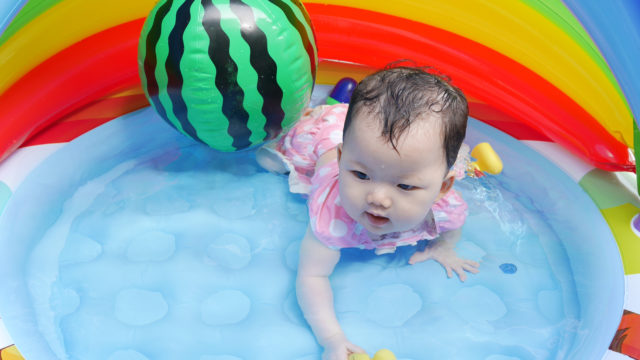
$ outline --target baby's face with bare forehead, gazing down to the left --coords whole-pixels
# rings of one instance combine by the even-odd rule
[[[444,194],[446,160],[433,119],[412,125],[396,152],[381,137],[379,121],[355,114],[340,151],[340,200],[347,214],[369,233],[382,235],[416,227]]]

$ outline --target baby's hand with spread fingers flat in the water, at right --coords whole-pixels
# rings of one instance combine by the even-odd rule
[[[450,278],[453,276],[452,271],[455,271],[460,278],[460,281],[467,279],[468,271],[473,274],[477,274],[480,270],[480,264],[473,260],[462,259],[458,257],[458,254],[454,249],[443,243],[434,243],[432,246],[427,246],[423,251],[416,251],[409,259],[409,264],[417,264],[419,262],[433,259],[442,265],[447,270],[447,276]]]

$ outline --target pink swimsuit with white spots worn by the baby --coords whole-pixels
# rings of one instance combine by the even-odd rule
[[[435,239],[442,232],[462,227],[467,204],[458,192],[451,190],[433,204],[425,221],[416,228],[372,240],[340,204],[338,161],[316,169],[320,156],[342,142],[346,113],[346,104],[317,107],[307,112],[275,147],[275,153],[290,170],[291,192],[308,196],[309,221],[318,240],[332,249],[357,247],[376,249],[377,254],[384,254],[394,252],[397,246],[415,245],[420,240]],[[459,155],[453,167],[458,179],[465,176],[466,159]]]

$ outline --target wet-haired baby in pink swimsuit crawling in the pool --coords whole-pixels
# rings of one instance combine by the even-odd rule
[[[329,276],[341,248],[383,254],[429,240],[410,264],[434,259],[462,281],[478,272],[454,250],[467,210],[452,189],[465,172],[464,161],[454,164],[467,115],[464,95],[442,77],[388,68],[362,80],[348,107],[309,111],[275,147],[258,151],[263,167],[288,171],[290,190],[308,196],[296,289],[323,359],[365,352],[347,339],[333,307]]]

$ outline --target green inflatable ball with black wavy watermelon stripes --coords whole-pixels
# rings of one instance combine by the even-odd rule
[[[138,51],[151,105],[221,151],[278,136],[309,103],[317,49],[297,0],[160,0]]]

